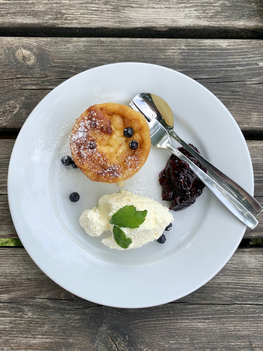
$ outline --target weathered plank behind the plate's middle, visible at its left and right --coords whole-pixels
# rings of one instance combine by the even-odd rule
[[[0,164],[2,166],[2,171],[0,173],[0,238],[17,237],[12,218],[9,212],[7,199],[7,171],[14,141],[15,140],[11,139],[0,139]],[[247,144],[249,147],[254,168],[255,196],[258,198],[258,201],[261,204],[263,204],[263,141],[248,140]],[[263,236],[263,214],[260,214],[258,216],[258,221],[259,224],[254,230],[247,229],[244,238],[259,238]]]

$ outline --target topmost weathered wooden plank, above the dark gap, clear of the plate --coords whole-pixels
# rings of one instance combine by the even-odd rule
[[[260,0],[139,1],[1,0],[0,29],[14,35],[221,35],[262,34]],[[205,34],[204,34],[205,33]],[[218,36],[216,37],[218,38]]]

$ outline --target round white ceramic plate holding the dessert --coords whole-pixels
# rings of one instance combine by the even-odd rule
[[[62,166],[75,118],[94,104],[128,105],[141,92],[163,97],[176,116],[178,134],[251,194],[254,190],[250,155],[234,118],[186,75],[120,63],[89,69],[50,92],[29,115],[12,152],[8,200],[15,229],[35,263],[56,283],[116,307],[159,305],[196,290],[225,265],[245,231],[207,188],[194,205],[172,211],[175,221],[164,245],[155,241],[136,250],[110,250],[102,237],[90,237],[80,227],[82,211],[120,187],[92,182],[80,170]],[[158,182],[169,156],[151,148],[125,188],[169,206]],[[77,203],[69,201],[73,191],[80,194]]]

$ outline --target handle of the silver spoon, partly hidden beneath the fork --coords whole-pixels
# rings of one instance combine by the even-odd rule
[[[245,208],[256,216],[262,212],[263,207],[258,201],[252,197],[245,189],[237,184],[233,179],[228,177],[225,173],[220,171],[211,162],[205,159],[200,153],[196,152],[191,146],[183,141],[171,128],[167,130],[170,137],[178,141],[191,155],[193,155],[206,169],[207,171],[222,185],[222,187],[229,191]]]

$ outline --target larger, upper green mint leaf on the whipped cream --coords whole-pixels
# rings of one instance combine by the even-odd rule
[[[147,210],[136,211],[135,206],[126,205],[112,215],[109,223],[130,229],[139,228],[139,226],[144,222],[146,214]]]

